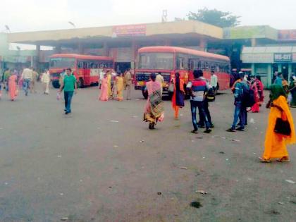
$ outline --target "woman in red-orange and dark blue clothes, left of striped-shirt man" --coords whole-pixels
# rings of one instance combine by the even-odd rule
[[[173,82],[173,97],[172,97],[172,106],[175,111],[175,119],[178,120],[179,109],[184,107],[184,81],[180,79],[180,74],[175,73],[175,78]]]

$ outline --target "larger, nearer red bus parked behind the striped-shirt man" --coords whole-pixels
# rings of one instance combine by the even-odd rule
[[[193,79],[193,70],[204,71],[204,78],[211,79],[211,70],[218,77],[220,90],[227,90],[230,83],[230,59],[227,56],[211,54],[204,51],[186,49],[180,47],[144,47],[138,50],[137,66],[135,69],[135,90],[142,90],[149,81],[150,73],[159,73],[164,77],[164,93],[168,93],[168,87],[175,73],[180,73],[187,84]]]

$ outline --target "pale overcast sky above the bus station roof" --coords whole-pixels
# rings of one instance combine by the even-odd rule
[[[55,30],[103,25],[154,23],[163,9],[168,20],[186,18],[189,11],[216,8],[241,16],[241,25],[271,25],[296,29],[295,0],[0,0],[0,32]]]

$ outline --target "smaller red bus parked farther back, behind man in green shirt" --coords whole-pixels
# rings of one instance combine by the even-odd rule
[[[49,61],[49,73],[55,88],[60,87],[60,75],[66,68],[72,69],[78,81],[78,87],[85,87],[97,84],[101,70],[111,70],[113,67],[113,58],[106,56],[55,54]]]

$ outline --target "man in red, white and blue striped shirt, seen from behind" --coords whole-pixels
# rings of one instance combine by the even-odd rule
[[[201,113],[201,117],[206,123],[206,130],[204,132],[211,132],[211,125],[209,124],[209,120],[206,117],[206,112],[204,111],[204,99],[206,92],[211,88],[208,82],[202,78],[202,70],[194,70],[193,75],[195,79],[187,84],[187,90],[190,90],[191,99],[191,115],[192,115],[192,124],[194,130],[192,133],[198,132],[198,123],[197,123],[197,108],[199,109],[199,113]]]

